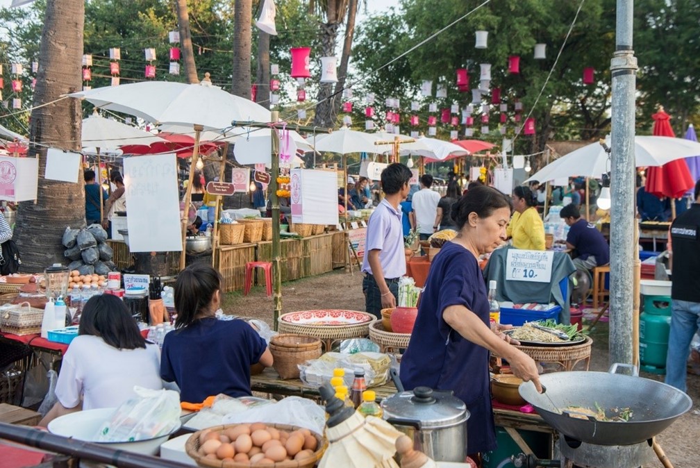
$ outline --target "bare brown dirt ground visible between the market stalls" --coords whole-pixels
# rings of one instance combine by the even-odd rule
[[[362,277],[345,273],[342,269],[331,273],[298,281],[290,281],[282,285],[282,312],[295,312],[311,309],[348,309],[364,310],[362,295]],[[225,296],[223,309],[226,313],[259,318],[272,325],[272,298],[265,296],[265,288],[256,287],[247,297],[234,292]],[[593,351],[591,353],[591,371],[607,371],[608,355],[608,324],[598,322],[593,332]],[[663,381],[663,376],[647,374],[646,378]],[[626,391],[624,388],[620,392]],[[691,411],[679,418],[671,427],[657,437],[657,441],[666,452],[675,468],[696,468],[700,466],[700,376],[689,374],[688,395],[693,399]],[[647,467],[662,467],[661,462],[654,460]]]

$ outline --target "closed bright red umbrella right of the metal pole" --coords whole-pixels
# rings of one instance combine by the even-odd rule
[[[671,115],[663,107],[652,115],[654,119],[654,136],[675,137],[671,128]],[[676,159],[660,167],[647,168],[647,183],[644,189],[657,197],[682,197],[687,190],[694,187],[695,181],[690,175],[685,159]]]

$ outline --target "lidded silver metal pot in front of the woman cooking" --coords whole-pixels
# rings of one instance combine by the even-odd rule
[[[384,419],[436,462],[463,463],[467,457],[469,411],[452,392],[416,387],[381,402]]]

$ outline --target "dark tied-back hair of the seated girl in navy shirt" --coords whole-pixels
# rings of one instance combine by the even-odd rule
[[[175,282],[175,327],[187,327],[207,311],[217,290],[221,290],[221,274],[210,264],[197,262],[180,272]]]

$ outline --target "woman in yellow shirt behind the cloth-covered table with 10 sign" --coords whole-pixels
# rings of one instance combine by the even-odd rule
[[[513,190],[513,209],[506,234],[513,247],[526,250],[545,250],[545,225],[537,208],[537,198],[530,187],[518,185]]]

